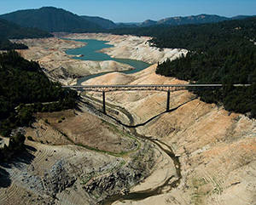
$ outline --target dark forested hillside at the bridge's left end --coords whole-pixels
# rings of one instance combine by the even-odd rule
[[[28,125],[33,112],[72,108],[76,95],[75,91],[65,91],[59,83],[50,82],[37,63],[23,59],[15,51],[0,54],[0,134],[3,136],[9,136],[12,128]]]

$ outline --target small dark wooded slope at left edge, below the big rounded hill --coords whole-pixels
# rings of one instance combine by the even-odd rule
[[[23,44],[11,43],[9,39],[52,37],[46,31],[40,31],[36,28],[25,28],[1,18],[0,31],[0,50],[27,48]]]

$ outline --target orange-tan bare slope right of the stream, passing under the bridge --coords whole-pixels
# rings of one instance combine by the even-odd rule
[[[160,77],[154,69],[155,65],[134,74],[129,83],[184,83],[172,77]],[[87,83],[108,84],[108,78],[111,77],[106,75]],[[193,100],[194,97],[187,91],[172,93],[170,108],[185,104],[137,128],[138,133],[172,146],[181,162],[180,185],[165,195],[126,203],[231,205],[256,201],[255,120],[224,111],[221,106]],[[108,93],[107,100],[125,107],[136,123],[145,122],[166,108],[165,93]]]

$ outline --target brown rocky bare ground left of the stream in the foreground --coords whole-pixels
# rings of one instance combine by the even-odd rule
[[[159,168],[167,167],[166,177],[176,174],[158,145],[93,112],[80,103],[75,110],[37,114],[24,129],[34,140],[26,140],[28,153],[0,166],[0,203],[96,204]]]

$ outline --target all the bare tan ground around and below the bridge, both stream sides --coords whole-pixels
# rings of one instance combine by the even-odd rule
[[[119,36],[90,35],[125,43]],[[131,57],[136,51],[125,52]],[[155,68],[129,76],[109,73],[84,84],[186,83],[156,75]],[[187,91],[171,94],[170,109],[177,109],[170,112],[164,92],[106,94],[108,115],[138,125],[129,129],[97,111],[101,100],[101,94],[87,92],[85,104],[72,111],[35,116],[33,128],[26,128],[35,140],[26,140],[29,154],[0,167],[0,204],[96,204],[107,197],[106,204],[255,204],[255,120]],[[171,148],[177,158],[168,155]],[[128,194],[115,202],[129,191],[139,200]],[[111,200],[113,194],[119,196]]]

